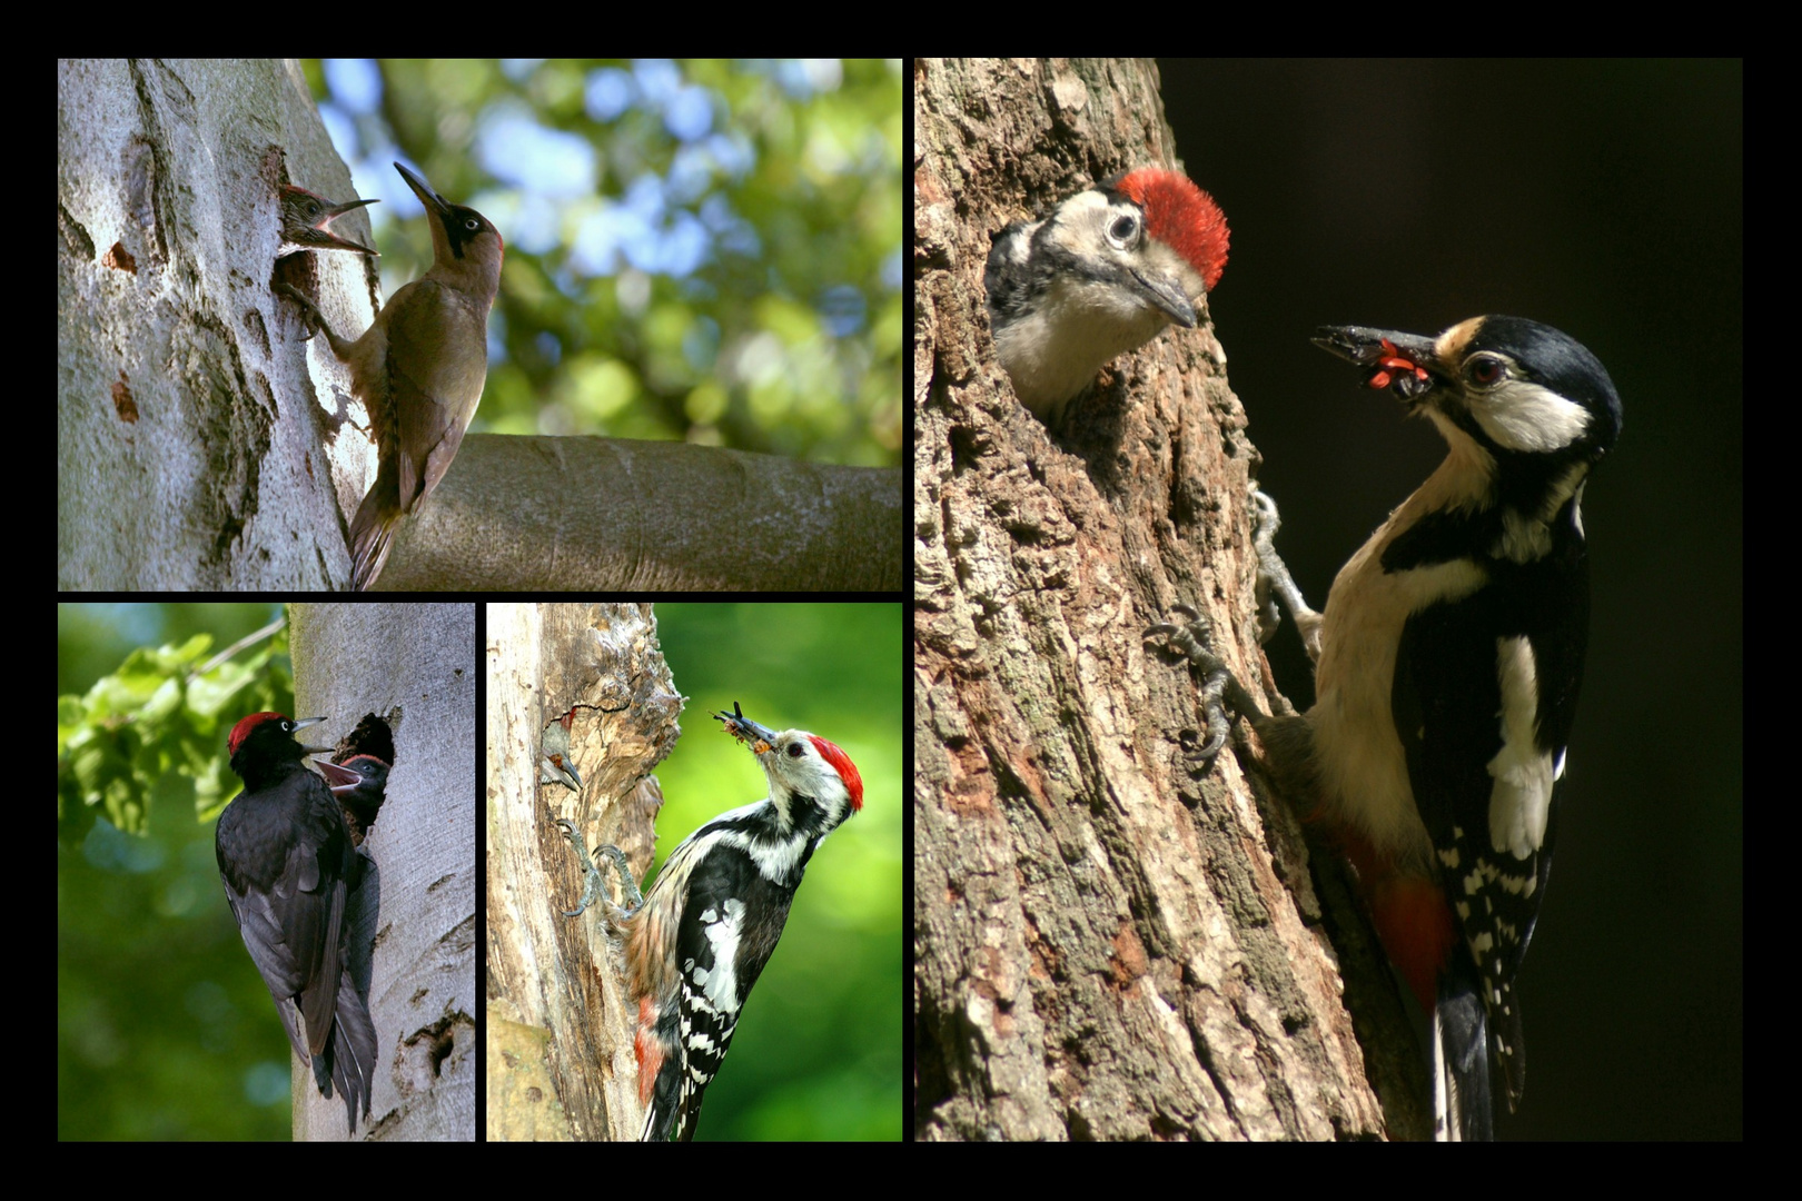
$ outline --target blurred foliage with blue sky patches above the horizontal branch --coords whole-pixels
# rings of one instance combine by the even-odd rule
[[[780,59],[312,61],[306,74],[364,196],[393,187],[416,212],[389,166],[402,153],[506,239],[490,322],[505,353],[490,349],[472,429],[894,466],[903,59],[831,65],[807,86]],[[593,99],[604,79],[631,97],[618,112]],[[705,133],[674,133],[672,108],[697,99]],[[634,205],[647,184],[660,202]],[[625,209],[651,212],[640,263],[687,230],[705,261],[596,268],[578,247]],[[391,293],[431,265],[431,238],[400,203],[368,212]]]

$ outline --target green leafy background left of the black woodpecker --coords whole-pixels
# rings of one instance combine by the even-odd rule
[[[288,1039],[213,859],[227,731],[294,711],[285,630],[191,675],[281,612],[58,605],[59,1140],[288,1138]]]

